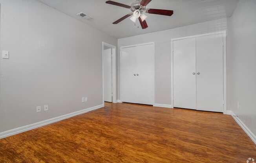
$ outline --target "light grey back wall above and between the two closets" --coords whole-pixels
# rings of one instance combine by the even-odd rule
[[[171,101],[171,39],[196,34],[224,31],[227,29],[227,18],[188,25],[166,31],[142,34],[118,40],[119,56],[120,47],[155,42],[155,103],[172,105]],[[120,57],[119,59],[120,60]],[[120,64],[119,64],[120,70]],[[119,81],[120,81],[120,71]],[[120,99],[120,82],[118,97]]]

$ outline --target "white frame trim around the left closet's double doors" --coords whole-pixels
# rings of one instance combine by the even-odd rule
[[[128,46],[121,46],[120,47],[120,98],[121,100],[119,102],[123,102],[122,100],[122,51],[124,48],[127,47],[135,47],[135,46],[142,46],[142,45],[153,45],[153,104],[155,103],[155,42],[148,42],[148,43],[140,43],[140,44],[134,44],[134,45],[128,45]]]

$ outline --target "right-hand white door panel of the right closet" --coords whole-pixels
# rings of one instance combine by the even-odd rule
[[[197,110],[223,112],[223,34],[197,38]]]

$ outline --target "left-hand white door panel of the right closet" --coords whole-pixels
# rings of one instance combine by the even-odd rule
[[[196,38],[176,40],[174,48],[174,107],[196,109]]]

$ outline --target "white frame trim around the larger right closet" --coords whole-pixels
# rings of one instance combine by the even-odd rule
[[[201,36],[208,36],[208,35],[213,35],[213,34],[223,34],[223,114],[227,114],[227,51],[226,51],[226,31],[220,31],[220,32],[214,32],[214,33],[206,33],[206,34],[198,34],[198,35],[194,35],[194,36],[187,36],[187,37],[181,37],[181,38],[174,38],[171,40],[171,78],[172,78],[172,83],[171,83],[171,94],[172,94],[172,105],[174,107],[174,72],[173,72],[173,65],[174,65],[174,60],[173,60],[173,53],[174,53],[174,49],[173,49],[173,42],[175,40],[183,40],[186,38],[194,38],[194,37],[201,37]]]

